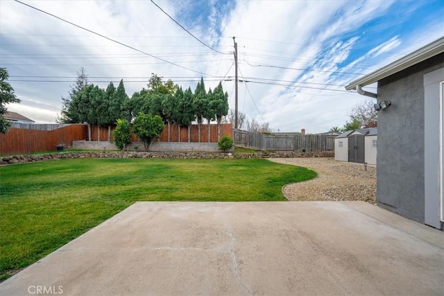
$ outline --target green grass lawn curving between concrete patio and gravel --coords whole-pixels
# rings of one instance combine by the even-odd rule
[[[264,159],[63,159],[0,167],[0,280],[136,201],[278,201],[315,177]]]

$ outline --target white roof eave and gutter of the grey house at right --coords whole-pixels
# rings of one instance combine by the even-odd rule
[[[421,47],[420,49],[413,51],[409,55],[404,56],[404,58],[400,58],[399,60],[395,60],[391,64],[386,65],[386,67],[382,67],[381,69],[374,71],[366,76],[363,76],[345,87],[347,90],[356,89],[358,85],[364,87],[365,85],[371,85],[374,82],[382,80],[388,76],[393,75],[394,73],[398,73],[408,67],[413,66],[414,64],[418,64],[428,58],[432,58],[435,55],[444,52],[444,37],[435,40],[434,42],[427,44],[426,46]]]

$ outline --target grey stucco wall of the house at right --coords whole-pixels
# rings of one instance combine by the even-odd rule
[[[378,83],[377,202],[380,207],[424,223],[423,76],[444,67],[436,55]]]

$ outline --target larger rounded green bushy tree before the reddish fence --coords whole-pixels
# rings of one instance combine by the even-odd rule
[[[139,113],[133,123],[133,131],[144,142],[148,151],[153,139],[159,137],[164,130],[164,122],[159,115]]]

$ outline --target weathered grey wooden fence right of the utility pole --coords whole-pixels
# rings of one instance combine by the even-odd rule
[[[259,132],[234,130],[234,143],[257,150],[327,151],[334,150],[334,137],[325,134],[273,136]]]

